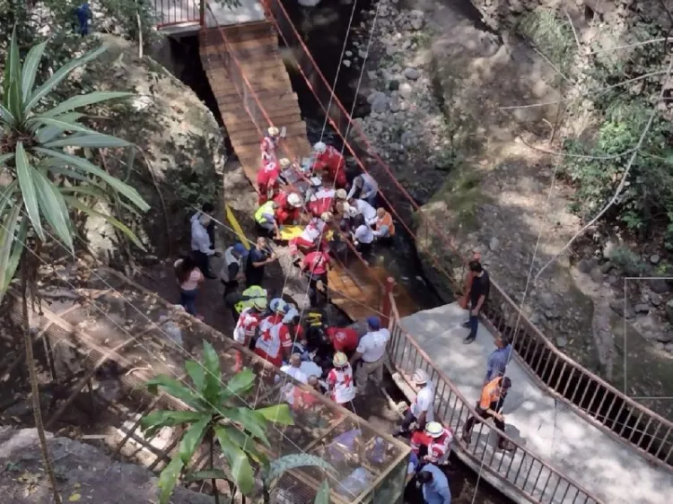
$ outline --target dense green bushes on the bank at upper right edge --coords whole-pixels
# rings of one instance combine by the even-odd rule
[[[586,108],[590,100],[590,122],[595,126],[566,137],[562,146],[569,154],[563,173],[576,189],[572,210],[589,222],[619,190],[603,223],[623,227],[640,239],[662,238],[662,245],[673,248],[673,148],[669,145],[673,126],[665,108],[653,103],[666,74],[665,46],[648,43],[603,51],[597,43],[585,48],[592,51],[581,56],[589,66],[578,71],[572,65],[577,42],[563,13],[540,9],[529,14],[520,30],[569,78],[586,78],[574,90],[576,99],[566,103],[568,117],[564,117],[571,123],[573,112]],[[641,44],[664,35],[656,24],[636,23],[629,27],[627,38],[616,39],[614,45]],[[602,37],[605,40],[606,35]],[[653,108],[651,127],[630,164]]]

